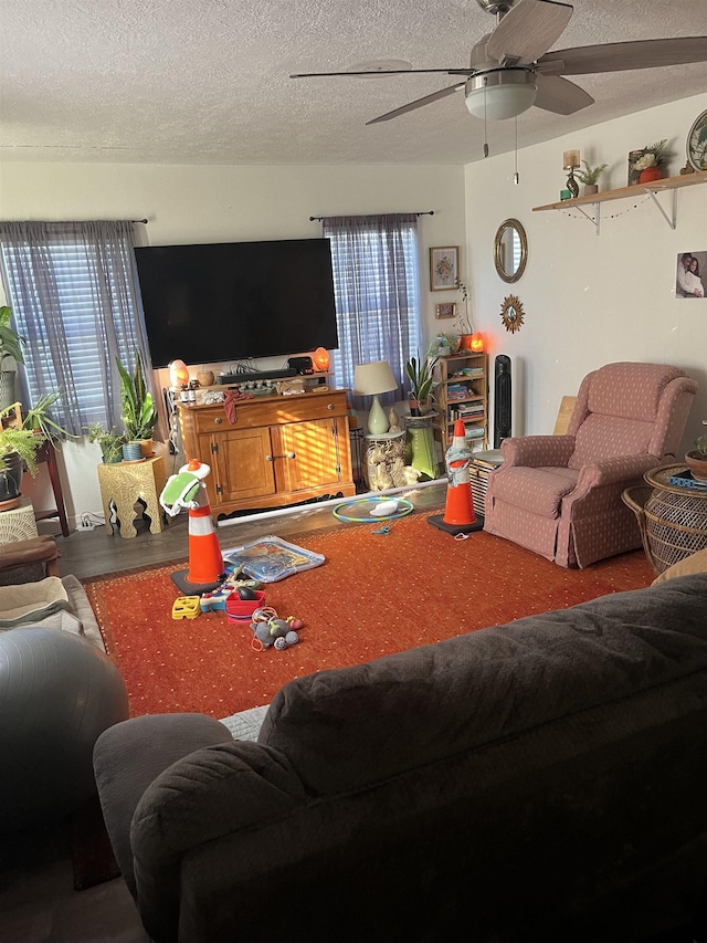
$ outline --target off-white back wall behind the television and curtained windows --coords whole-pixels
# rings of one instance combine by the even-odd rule
[[[462,167],[4,164],[0,172],[3,219],[147,218],[151,244],[308,238],[321,232],[310,216],[434,210],[420,217],[425,339],[436,332],[437,301],[446,298],[429,292],[429,247],[462,245],[465,237]],[[99,460],[95,446],[64,446],[70,516],[101,511]],[[52,506],[45,479],[23,488],[35,506]]]

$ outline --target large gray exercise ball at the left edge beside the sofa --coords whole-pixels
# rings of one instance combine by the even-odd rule
[[[63,818],[96,793],[93,747],[128,716],[120,673],[80,636],[0,632],[0,830]]]

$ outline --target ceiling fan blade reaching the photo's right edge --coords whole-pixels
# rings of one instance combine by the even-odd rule
[[[688,62],[707,62],[707,36],[635,40],[634,42],[559,49],[544,55],[538,65],[541,72],[560,75],[589,75],[593,72],[621,72],[629,69],[685,65]]]

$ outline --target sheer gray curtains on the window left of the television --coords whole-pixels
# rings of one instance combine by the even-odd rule
[[[122,429],[116,357],[131,368],[138,349],[151,379],[134,245],[126,220],[0,222],[2,281],[15,329],[28,340],[22,399],[62,390],[52,415],[74,434],[91,421]],[[84,298],[89,293],[91,329],[76,329],[72,284]],[[88,385],[103,404],[101,396],[88,408],[85,395],[82,401]]]

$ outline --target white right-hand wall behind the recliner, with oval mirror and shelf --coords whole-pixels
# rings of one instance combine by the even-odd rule
[[[626,186],[630,150],[665,137],[675,154],[666,176],[677,176],[686,163],[687,132],[706,107],[707,96],[699,95],[528,147],[518,157],[518,186],[513,155],[466,167],[473,316],[487,334],[492,371],[496,354],[509,355],[519,366],[515,434],[551,432],[561,397],[574,394],[587,373],[614,360],[683,367],[700,387],[683,451],[704,431],[707,300],[676,298],[675,273],[679,252],[707,250],[707,185],[676,191],[675,231],[642,193],[602,203],[599,237],[577,209],[532,208],[559,200],[566,179],[562,151],[570,148],[579,148],[592,166],[609,164],[600,180],[605,190]],[[669,216],[672,195],[657,199]],[[520,220],[529,245],[526,272],[514,284],[498,277],[493,261],[496,229],[509,217]],[[515,334],[500,321],[509,294],[525,311],[525,324]]]

